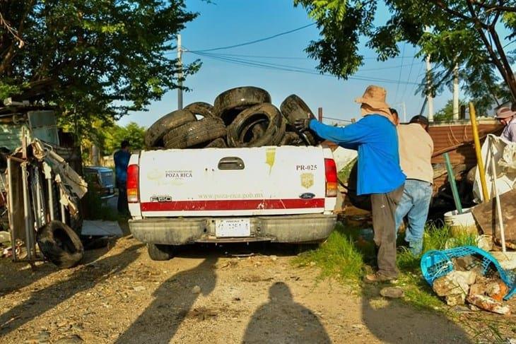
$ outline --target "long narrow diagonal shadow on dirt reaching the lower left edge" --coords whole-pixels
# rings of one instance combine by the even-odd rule
[[[0,327],[0,338],[58,304],[66,302],[79,292],[95,287],[98,283],[111,278],[113,274],[124,270],[138,258],[139,252],[136,250],[142,246],[142,244],[135,244],[119,254],[81,266],[66,280],[33,292],[25,302],[0,315],[0,325],[8,324],[3,328]]]

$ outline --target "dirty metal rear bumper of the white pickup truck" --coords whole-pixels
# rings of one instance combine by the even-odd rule
[[[321,242],[335,227],[336,215],[307,214],[250,218],[249,237],[216,237],[215,218],[145,218],[129,220],[131,234],[141,242],[183,245],[194,242],[285,243]]]

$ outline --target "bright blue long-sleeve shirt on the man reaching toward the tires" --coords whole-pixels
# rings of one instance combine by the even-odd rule
[[[358,195],[386,194],[405,182],[396,126],[386,117],[370,114],[344,128],[312,119],[310,129],[341,147],[358,150]]]

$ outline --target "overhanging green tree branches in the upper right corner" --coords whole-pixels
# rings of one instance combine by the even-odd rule
[[[374,49],[377,59],[397,57],[399,43],[420,48],[418,57],[430,55],[436,64],[419,90],[438,93],[450,86],[452,71],[459,66],[464,90],[486,102],[498,98],[516,100],[516,81],[498,31],[505,27],[509,40],[516,37],[515,0],[385,0],[389,11],[386,23],[377,25],[375,0],[294,0],[317,21],[321,39],[310,42],[306,52],[319,60],[318,69],[347,78],[363,64],[359,52],[361,37]],[[500,73],[503,85],[499,83]],[[487,98],[488,96],[488,98]]]

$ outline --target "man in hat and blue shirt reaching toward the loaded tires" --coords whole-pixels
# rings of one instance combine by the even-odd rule
[[[396,231],[394,213],[403,193],[405,174],[399,166],[398,136],[385,88],[370,85],[360,104],[360,121],[346,127],[329,126],[315,118],[298,119],[299,131],[310,129],[319,137],[339,146],[358,150],[357,194],[370,195],[378,271],[365,275],[365,282],[394,280],[396,267]]]

